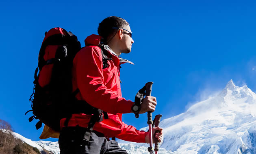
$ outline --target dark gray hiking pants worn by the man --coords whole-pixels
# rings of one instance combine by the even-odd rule
[[[102,133],[93,131],[90,142],[86,145],[83,137],[86,128],[63,128],[59,137],[60,154],[128,154],[116,141],[108,141]]]

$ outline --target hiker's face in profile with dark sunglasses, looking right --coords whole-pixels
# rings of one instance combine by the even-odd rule
[[[130,26],[127,26],[127,28],[121,29],[122,37],[121,37],[121,53],[129,53],[132,50],[132,43],[134,43],[131,35],[131,29]]]

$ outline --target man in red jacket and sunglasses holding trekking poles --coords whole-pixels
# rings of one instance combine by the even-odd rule
[[[73,60],[72,84],[73,91],[78,89],[77,100],[107,113],[104,113],[103,121],[95,122],[89,142],[85,138],[92,115],[77,113],[72,114],[69,119],[63,118],[59,137],[61,154],[127,154],[119,148],[116,141],[109,140],[110,137],[149,143],[148,132],[139,131],[121,122],[122,113],[131,113],[134,104],[121,97],[119,79],[120,64],[129,61],[118,56],[129,53],[134,43],[130,26],[120,17],[108,17],[99,24],[98,33],[100,36],[88,36],[85,39],[86,47],[76,54]],[[106,67],[103,66],[102,50],[107,55]],[[156,98],[146,96],[139,113],[153,112],[155,108]],[[156,133],[155,137],[161,141],[162,128],[153,128],[153,133],[156,130],[160,130],[160,133]]]

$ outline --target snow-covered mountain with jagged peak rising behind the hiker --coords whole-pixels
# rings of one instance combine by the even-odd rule
[[[256,94],[230,80],[217,96],[163,120],[160,126],[164,139],[158,154],[256,154]],[[59,153],[57,142],[23,140]],[[148,154],[148,144],[119,143],[130,154]]]

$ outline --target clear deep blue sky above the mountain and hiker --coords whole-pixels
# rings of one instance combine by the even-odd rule
[[[135,63],[121,68],[124,98],[153,81],[158,105],[153,116],[163,118],[186,111],[188,104],[221,90],[233,79],[256,91],[255,1],[10,1],[0,2],[0,119],[17,133],[39,140],[24,116],[30,109],[33,75],[44,32],[62,27],[78,36],[82,46],[98,23],[119,16],[130,23],[135,43],[122,54]],[[124,122],[147,126],[146,114]],[[57,141],[56,139],[47,139]]]

